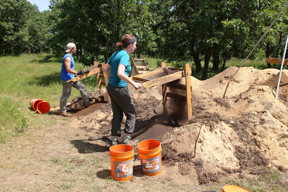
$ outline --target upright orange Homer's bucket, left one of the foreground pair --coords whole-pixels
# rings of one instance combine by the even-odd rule
[[[112,178],[116,181],[130,180],[133,176],[134,148],[131,145],[114,145],[109,151]]]

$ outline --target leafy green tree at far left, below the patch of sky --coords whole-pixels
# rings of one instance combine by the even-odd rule
[[[0,53],[40,53],[46,40],[43,14],[26,0],[5,0],[0,4]]]

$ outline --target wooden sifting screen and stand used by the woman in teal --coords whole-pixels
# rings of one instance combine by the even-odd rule
[[[133,77],[129,77],[133,81],[136,82],[142,82],[142,87],[143,88],[149,88],[149,87],[156,87],[159,85],[162,85],[162,97],[163,97],[163,113],[164,115],[168,115],[168,107],[167,107],[167,101],[168,97],[174,97],[173,94],[170,94],[167,92],[167,87],[173,87],[173,88],[178,88],[178,89],[183,89],[186,90],[186,97],[183,98],[186,100],[187,103],[187,119],[189,120],[192,117],[192,97],[191,97],[191,68],[190,64],[185,65],[185,69],[174,69],[174,68],[169,68],[168,66],[166,67],[165,62],[161,63],[160,69],[156,69],[154,71],[149,71],[148,73],[143,73],[139,75],[135,75]],[[169,69],[169,71],[175,71],[175,73],[171,73],[169,75],[164,75],[162,77],[158,77],[156,79],[153,79],[153,76],[161,76],[165,70]],[[175,81],[177,79],[181,79],[185,77],[185,85],[177,85],[173,86],[172,83],[169,83],[171,81]]]

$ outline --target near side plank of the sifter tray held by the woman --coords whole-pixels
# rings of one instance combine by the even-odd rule
[[[143,88],[156,87],[164,83],[168,83],[170,81],[175,81],[177,79],[181,79],[182,77],[185,77],[184,73],[185,71],[178,71],[176,73],[166,75],[164,77],[160,77],[151,81],[147,81],[145,83],[142,83],[142,87]],[[144,74],[147,74],[147,73],[144,73]]]

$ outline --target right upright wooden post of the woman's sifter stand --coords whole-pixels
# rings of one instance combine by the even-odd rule
[[[190,79],[190,64],[185,64],[185,79],[186,79],[186,98],[187,98],[187,120],[192,118],[192,97],[191,97],[191,79]]]

